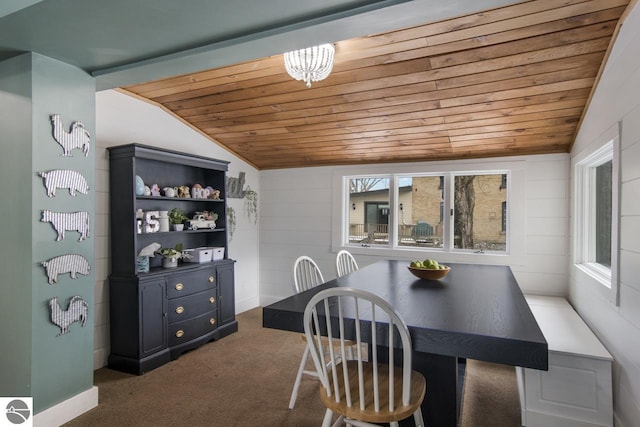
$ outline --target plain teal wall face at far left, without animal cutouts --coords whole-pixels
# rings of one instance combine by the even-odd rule
[[[31,58],[0,62],[0,396],[31,396]]]

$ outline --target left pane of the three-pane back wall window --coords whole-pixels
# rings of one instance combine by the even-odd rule
[[[351,178],[349,207],[349,243],[388,245],[388,178]]]

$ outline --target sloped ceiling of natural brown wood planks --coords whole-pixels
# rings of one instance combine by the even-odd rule
[[[533,0],[124,88],[258,169],[568,152],[629,0]]]

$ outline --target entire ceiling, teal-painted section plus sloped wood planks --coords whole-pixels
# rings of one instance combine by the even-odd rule
[[[5,0],[0,61],[75,65],[259,169],[568,152],[629,3]],[[307,89],[282,52],[320,42]]]

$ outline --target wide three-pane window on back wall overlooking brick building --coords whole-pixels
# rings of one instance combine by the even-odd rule
[[[342,244],[506,253],[507,173],[346,177]]]

